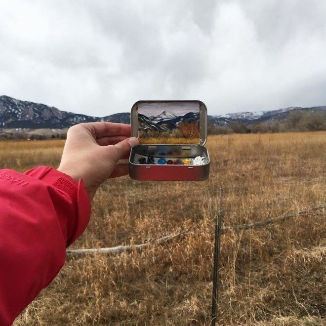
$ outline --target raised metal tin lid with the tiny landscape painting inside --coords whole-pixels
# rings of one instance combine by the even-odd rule
[[[204,145],[207,140],[207,108],[201,101],[138,101],[130,123],[140,144]]]

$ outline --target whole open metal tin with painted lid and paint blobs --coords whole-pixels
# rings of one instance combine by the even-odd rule
[[[202,181],[209,175],[207,108],[201,101],[138,101],[131,108],[129,176],[134,180]],[[163,163],[164,162],[164,163]]]

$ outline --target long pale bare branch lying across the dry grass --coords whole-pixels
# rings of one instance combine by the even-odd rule
[[[280,215],[280,216],[277,216],[274,218],[268,218],[263,221],[259,221],[259,222],[255,222],[255,223],[251,223],[251,224],[239,224],[239,225],[235,225],[232,227],[229,227],[229,226],[222,227],[221,232],[261,228],[263,226],[272,224],[276,221],[284,221],[285,219],[288,219],[290,217],[307,215],[312,210],[318,210],[318,209],[323,209],[323,208],[326,208],[326,205],[312,207],[310,209],[302,210],[300,212],[289,214],[289,215]],[[149,241],[148,243],[145,243],[145,244],[118,245],[116,247],[107,247],[107,248],[72,249],[72,250],[67,250],[67,254],[72,255],[72,256],[95,255],[98,253],[104,253],[107,255],[115,255],[115,254],[119,254],[121,252],[130,252],[132,250],[142,250],[142,249],[148,247],[150,244],[167,243],[173,239],[177,239],[183,235],[186,235],[189,233],[194,233],[194,232],[195,231],[191,231],[191,230],[183,230],[183,231],[180,231],[173,235],[165,236],[165,237],[159,238],[154,241]]]

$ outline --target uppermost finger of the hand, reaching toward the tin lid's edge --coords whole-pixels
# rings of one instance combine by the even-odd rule
[[[130,124],[114,122],[88,122],[84,126],[93,131],[96,138],[106,136],[126,136],[130,137]]]

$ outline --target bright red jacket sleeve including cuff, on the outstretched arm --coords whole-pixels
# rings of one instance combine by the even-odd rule
[[[11,325],[65,262],[86,228],[90,201],[54,168],[0,170],[0,325]]]

